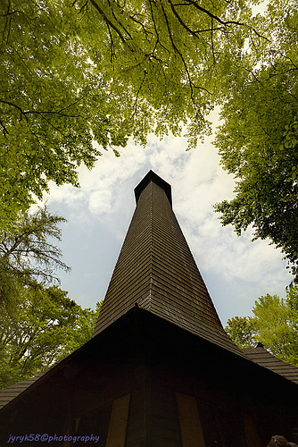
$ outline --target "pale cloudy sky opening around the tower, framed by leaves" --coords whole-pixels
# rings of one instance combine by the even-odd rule
[[[215,128],[218,117],[211,118]],[[103,151],[92,171],[80,166],[79,189],[51,184],[49,210],[68,220],[59,247],[71,272],[58,276],[71,299],[95,308],[104,298],[136,207],[134,188],[150,169],[171,185],[173,210],[223,325],[232,316],[252,315],[261,295],[285,296],[293,277],[280,251],[269,240],[252,242],[252,230],[236,236],[213,211],[234,197],[235,182],[220,167],[212,139],[186,151],[183,137],[150,135],[145,148],[129,142],[119,158]]]

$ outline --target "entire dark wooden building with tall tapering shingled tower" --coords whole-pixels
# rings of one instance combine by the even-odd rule
[[[102,447],[294,440],[298,368],[229,339],[173,213],[170,185],[150,171],[135,194],[92,340],[0,392],[1,445],[9,434]],[[96,443],[86,440],[91,434]]]

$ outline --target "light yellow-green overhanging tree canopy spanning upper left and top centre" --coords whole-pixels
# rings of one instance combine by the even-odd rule
[[[252,2],[254,3],[254,2]],[[244,0],[4,0],[0,5],[0,221],[48,181],[79,185],[102,148],[178,134],[195,146],[244,38]],[[259,25],[258,25],[259,26]],[[199,51],[198,51],[199,48]]]

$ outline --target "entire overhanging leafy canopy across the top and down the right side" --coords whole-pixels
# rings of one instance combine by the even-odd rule
[[[220,105],[217,145],[236,177],[218,204],[297,273],[297,0],[4,0],[0,5],[0,226],[48,182],[79,186],[99,147],[187,127]],[[95,144],[96,143],[96,144]]]

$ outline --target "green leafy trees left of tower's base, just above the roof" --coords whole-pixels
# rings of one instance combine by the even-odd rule
[[[46,370],[87,342],[100,310],[81,308],[57,286],[16,282],[13,304],[0,313],[0,386]]]

